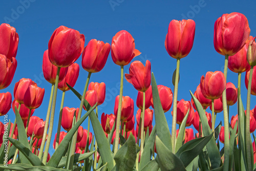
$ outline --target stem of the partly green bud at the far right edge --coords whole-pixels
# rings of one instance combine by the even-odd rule
[[[246,103],[246,121],[245,121],[245,143],[246,143],[246,161],[248,170],[252,170],[251,166],[251,141],[250,141],[250,97],[251,97],[251,81],[252,81],[253,67],[251,66],[247,89],[247,103]]]

